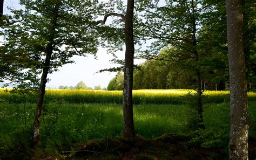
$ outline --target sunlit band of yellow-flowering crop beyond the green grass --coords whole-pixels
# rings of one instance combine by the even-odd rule
[[[186,94],[195,92],[189,89],[144,89],[133,91],[134,104],[185,104]],[[204,103],[222,103],[229,101],[228,91],[205,91]],[[0,89],[0,99],[9,102],[21,103],[24,97],[18,94],[10,94]],[[28,96],[27,101],[36,102],[35,96]],[[64,100],[69,103],[122,103],[122,91],[93,91],[93,90],[69,90],[46,89],[45,101]],[[248,93],[249,101],[256,101],[256,93]]]

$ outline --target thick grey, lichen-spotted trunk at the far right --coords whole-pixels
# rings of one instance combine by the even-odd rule
[[[248,159],[248,101],[244,46],[242,43],[242,1],[226,1],[227,40],[230,69],[230,159]]]

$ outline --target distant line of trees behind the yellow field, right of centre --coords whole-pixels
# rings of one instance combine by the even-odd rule
[[[196,76],[190,65],[163,59],[169,50],[160,52],[157,58],[149,59],[139,65],[133,74],[133,89],[195,89]],[[202,60],[203,61],[203,60]],[[217,61],[217,60],[216,60]],[[228,69],[225,61],[215,68],[207,61],[201,66],[201,89],[224,91],[229,89]],[[251,72],[248,90],[255,91],[255,73]],[[107,90],[122,90],[124,75],[118,72],[109,82]]]

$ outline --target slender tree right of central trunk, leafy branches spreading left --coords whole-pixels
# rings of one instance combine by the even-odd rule
[[[198,49],[199,30],[205,6],[201,1],[178,1],[158,6],[156,3],[145,2],[141,15],[143,20],[138,20],[141,25],[142,39],[154,39],[149,49],[144,51],[144,57],[154,58],[159,51],[167,48],[171,52],[169,61],[182,63],[187,69],[193,71],[196,79],[197,91],[196,109],[198,113],[198,127],[204,128],[203,103],[201,91],[201,59]],[[153,55],[152,55],[153,54]]]

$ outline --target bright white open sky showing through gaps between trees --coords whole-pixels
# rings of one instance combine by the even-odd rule
[[[14,9],[21,9],[18,4],[19,0],[4,0],[4,14],[10,14],[7,6]],[[118,59],[124,59],[124,51],[116,53]],[[58,72],[49,74],[50,81],[46,84],[48,88],[58,88],[59,86],[76,86],[79,81],[85,82],[87,87],[94,87],[100,85],[102,88],[107,87],[109,81],[114,78],[116,73],[97,73],[99,69],[105,69],[117,66],[111,64],[110,60],[113,59],[111,54],[107,54],[104,48],[98,48],[97,59],[93,55],[88,57],[75,56],[72,60],[74,64],[66,64],[59,67]],[[140,64],[144,60],[134,60],[134,64]]]

